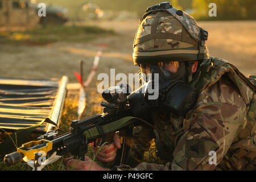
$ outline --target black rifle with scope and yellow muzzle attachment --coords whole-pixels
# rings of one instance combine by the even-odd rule
[[[124,90],[126,92],[123,92]],[[55,132],[47,133],[40,136],[37,141],[22,144],[17,151],[5,156],[5,164],[30,161],[32,164],[28,165],[40,170],[40,158],[45,158],[47,154],[63,156],[71,153],[84,160],[89,143],[94,142],[94,146],[100,146],[102,142],[112,141],[116,131],[136,125],[138,120],[132,117],[133,111],[127,93],[128,85],[110,87],[102,93],[102,97],[107,101],[101,102],[104,113],[72,121],[69,133],[60,136]]]

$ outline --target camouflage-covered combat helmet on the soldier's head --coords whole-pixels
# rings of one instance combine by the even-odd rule
[[[134,65],[159,61],[209,59],[208,32],[169,2],[151,6],[142,16],[134,39]]]

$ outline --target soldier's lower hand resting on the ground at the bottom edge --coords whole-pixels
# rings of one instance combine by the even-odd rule
[[[74,171],[110,171],[108,168],[101,167],[97,163],[93,162],[88,156],[85,156],[85,160],[77,160],[72,158],[64,159],[64,164],[70,170]]]

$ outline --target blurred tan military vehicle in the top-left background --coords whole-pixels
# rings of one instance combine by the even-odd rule
[[[63,24],[67,10],[59,6],[46,6],[46,17],[38,16],[40,7],[30,0],[0,0],[0,26],[35,26],[36,24]]]

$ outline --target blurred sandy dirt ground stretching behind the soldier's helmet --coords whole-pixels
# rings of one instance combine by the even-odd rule
[[[102,50],[100,65],[90,86],[96,87],[99,73],[135,73],[133,40],[138,21],[90,22],[118,34],[99,37],[91,42],[56,42],[44,46],[0,45],[0,77],[61,78],[77,82],[79,60],[84,60],[84,79],[93,65],[94,56]],[[256,21],[199,22],[209,32],[207,42],[211,56],[221,57],[236,65],[245,75],[256,75]]]

